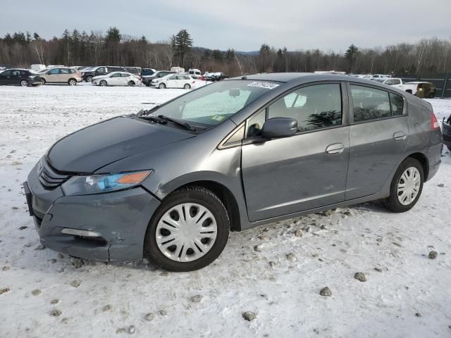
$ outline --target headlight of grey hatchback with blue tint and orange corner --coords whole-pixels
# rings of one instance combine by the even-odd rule
[[[128,189],[140,184],[153,170],[108,175],[73,176],[61,186],[66,195],[89,195]]]

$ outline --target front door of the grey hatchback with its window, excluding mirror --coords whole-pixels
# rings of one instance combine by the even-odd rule
[[[242,180],[249,220],[288,215],[345,200],[350,127],[340,83],[302,87],[247,121]],[[295,118],[292,137],[259,137],[267,118]]]

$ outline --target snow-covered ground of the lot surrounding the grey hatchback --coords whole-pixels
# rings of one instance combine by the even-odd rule
[[[0,87],[0,337],[450,337],[446,151],[408,213],[371,203],[234,232],[193,273],[42,249],[20,188],[38,158],[69,132],[183,92]],[[451,113],[451,100],[430,101],[439,120]]]

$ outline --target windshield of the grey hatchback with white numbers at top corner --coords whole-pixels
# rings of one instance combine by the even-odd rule
[[[212,127],[235,115],[252,101],[279,85],[276,82],[252,80],[207,84],[161,106],[152,114]]]

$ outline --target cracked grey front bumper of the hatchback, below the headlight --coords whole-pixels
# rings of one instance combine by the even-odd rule
[[[142,259],[147,225],[159,201],[141,187],[105,194],[65,196],[44,189],[34,168],[24,183],[30,215],[42,245],[79,258],[125,262]],[[65,234],[63,229],[99,237]]]

